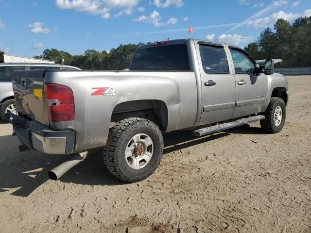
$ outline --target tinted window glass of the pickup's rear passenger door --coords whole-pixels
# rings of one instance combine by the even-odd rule
[[[228,74],[229,67],[225,49],[222,47],[200,45],[203,69],[208,74]]]

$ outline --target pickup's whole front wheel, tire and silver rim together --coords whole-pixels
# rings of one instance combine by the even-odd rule
[[[266,117],[260,120],[260,126],[268,133],[278,133],[283,129],[286,118],[286,105],[284,100],[272,97],[268,108],[264,112]]]

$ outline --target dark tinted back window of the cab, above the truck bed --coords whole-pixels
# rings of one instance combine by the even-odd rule
[[[187,46],[185,44],[164,45],[137,50],[130,70],[190,70]]]

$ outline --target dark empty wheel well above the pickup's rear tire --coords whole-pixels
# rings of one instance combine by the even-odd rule
[[[161,100],[133,100],[119,103],[112,111],[111,122],[129,117],[140,117],[153,121],[160,130],[166,131],[168,110]]]

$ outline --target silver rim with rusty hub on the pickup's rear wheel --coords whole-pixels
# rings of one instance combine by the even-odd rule
[[[129,140],[125,149],[125,160],[133,169],[146,166],[154,153],[154,142],[146,133],[138,133]]]

